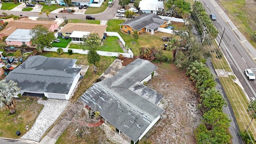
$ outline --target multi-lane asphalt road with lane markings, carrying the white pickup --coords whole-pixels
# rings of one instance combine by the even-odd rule
[[[256,50],[245,43],[246,40],[237,33],[239,28],[237,29],[234,25],[230,26],[229,23],[226,22],[227,18],[224,18],[223,15],[220,14],[220,11],[211,1],[201,0],[201,2],[209,14],[213,13],[217,17],[217,20],[213,21],[213,23],[220,32],[219,36],[216,38],[218,42],[220,42],[220,37],[225,28],[220,47],[228,59],[234,74],[244,87],[248,97],[251,100],[255,100],[256,80],[248,80],[244,75],[244,70],[251,68],[252,71],[256,73],[256,63],[254,61],[254,58],[256,58],[256,56],[254,56]]]

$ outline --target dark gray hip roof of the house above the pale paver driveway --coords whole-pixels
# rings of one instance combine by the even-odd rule
[[[81,68],[72,68],[77,60],[30,56],[12,70],[6,80],[14,80],[22,91],[68,94]]]

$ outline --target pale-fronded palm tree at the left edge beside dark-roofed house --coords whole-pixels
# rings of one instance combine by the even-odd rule
[[[0,108],[5,108],[10,110],[10,114],[14,114],[16,102],[13,97],[20,91],[17,83],[13,80],[6,82],[6,80],[0,81]]]

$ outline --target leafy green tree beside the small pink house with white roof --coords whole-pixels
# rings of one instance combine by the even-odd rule
[[[56,39],[54,32],[50,32],[48,28],[43,25],[36,25],[29,34],[32,36],[32,44],[36,45],[36,50],[42,52],[44,47],[52,48],[52,42]]]

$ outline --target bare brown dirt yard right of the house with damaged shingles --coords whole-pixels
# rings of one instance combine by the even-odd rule
[[[126,66],[135,59],[125,59]],[[200,124],[201,112],[197,109],[195,87],[174,64],[156,64],[156,76],[147,86],[164,95],[160,107],[165,112],[140,143],[196,144],[194,129]]]

